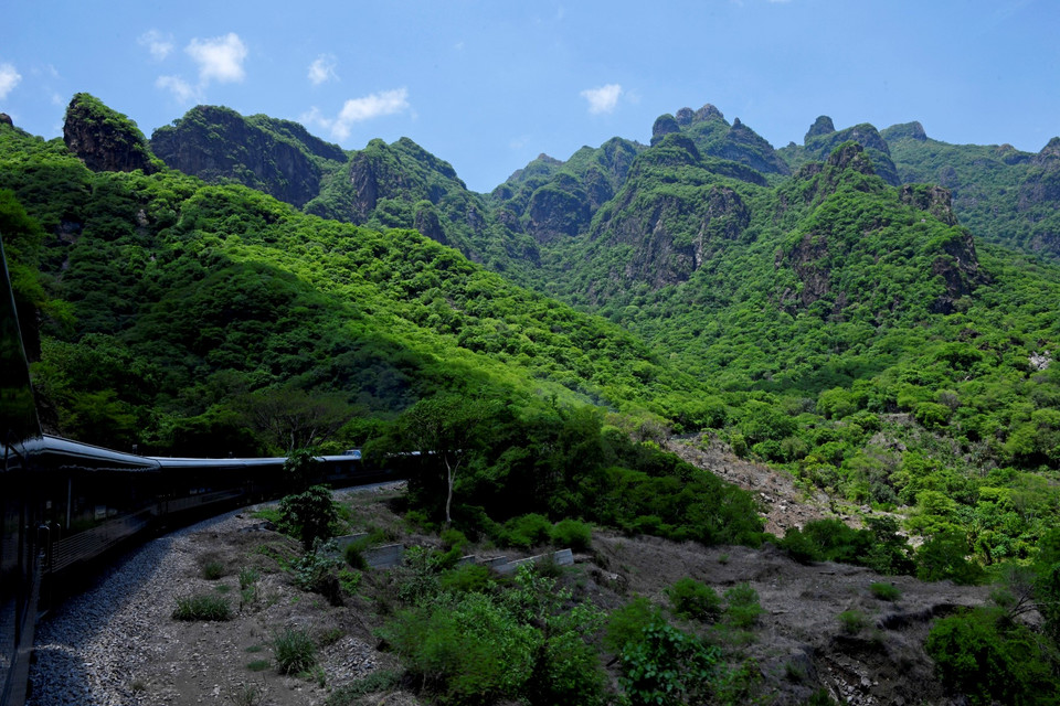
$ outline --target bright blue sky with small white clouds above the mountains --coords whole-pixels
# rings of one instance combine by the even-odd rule
[[[775,147],[824,114],[1038,151],[1057,36],[1053,0],[7,0],[0,111],[51,138],[77,92],[148,135],[225,105],[348,149],[406,136],[489,191],[704,103]]]

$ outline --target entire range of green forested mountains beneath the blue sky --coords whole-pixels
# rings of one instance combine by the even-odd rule
[[[841,502],[901,510],[910,532],[963,532],[984,563],[1026,558],[1060,512],[1060,271],[1004,236],[1048,226],[1053,143],[1003,150],[1016,215],[981,232],[962,199],[988,150],[940,158],[965,180],[953,197],[909,167],[932,145],[915,126],[820,118],[773,150],[712,106],[682,109],[649,146],[542,156],[484,195],[411,140],[340,156],[199,108],[151,146],[201,150],[205,183],[150,154],[95,161],[142,136],[78,116],[71,148],[0,127],[57,428],[247,448],[265,443],[247,414],[311,395],[356,416],[353,442],[447,392],[545,416],[594,405],[637,438],[706,430]],[[477,478],[518,466],[492,452]]]

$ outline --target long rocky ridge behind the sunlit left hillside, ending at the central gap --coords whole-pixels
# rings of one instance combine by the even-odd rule
[[[346,152],[296,122],[198,106],[155,130],[150,146],[208,183],[234,181],[324,218],[415,228],[498,271],[537,257],[532,239],[498,222],[452,165],[407,138]]]

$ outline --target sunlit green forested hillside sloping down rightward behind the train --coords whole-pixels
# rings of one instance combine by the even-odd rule
[[[70,130],[112,129],[83,121],[82,103],[72,104]],[[142,148],[136,126],[107,113]],[[254,122],[269,128],[258,137],[273,142],[262,143],[282,152],[279,129],[296,135]],[[114,171],[94,161],[103,145],[82,140],[75,156],[0,126],[6,207],[42,243],[15,252],[41,272],[20,290],[53,310],[40,324],[34,375],[54,430],[116,447],[166,451],[193,440],[250,452],[246,415],[306,394],[370,420],[438,391],[645,415],[658,398],[704,389],[618,327],[509,285],[415,231],[324,220],[165,168]],[[380,143],[358,156],[411,150]],[[266,183],[275,173],[244,175]],[[32,242],[19,235],[4,234]]]

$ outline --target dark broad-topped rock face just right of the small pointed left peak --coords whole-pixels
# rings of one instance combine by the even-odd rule
[[[234,179],[298,207],[320,191],[319,162],[346,160],[339,147],[300,125],[253,120],[219,106],[198,106],[155,130],[151,149],[169,167],[203,181]]]

